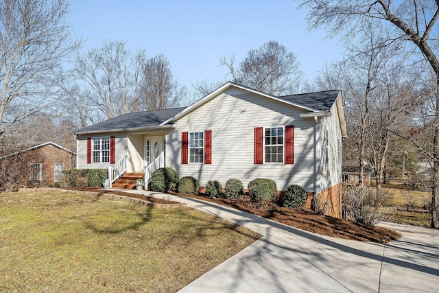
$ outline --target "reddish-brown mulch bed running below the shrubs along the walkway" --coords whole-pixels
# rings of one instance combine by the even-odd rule
[[[105,192],[106,194],[119,194],[121,196],[139,198],[156,203],[176,203],[165,200],[164,198],[152,198],[150,196],[132,194],[123,191],[109,191],[96,188],[83,188],[76,190],[95,191],[100,193]],[[204,196],[204,194],[198,194],[196,196],[193,194],[179,194],[176,192],[170,192],[170,194],[187,196],[189,198],[196,198],[199,200],[223,204],[228,207],[254,213],[255,215],[260,215],[263,218],[268,218],[294,228],[318,233],[320,235],[352,239],[363,242],[380,243],[386,243],[401,238],[401,233],[392,231],[388,228],[363,226],[349,220],[333,218],[329,215],[319,215],[311,209],[290,209],[287,207],[279,207],[273,202],[253,202],[250,199],[250,196],[239,196],[237,200],[230,200],[227,198],[209,198],[208,196]]]

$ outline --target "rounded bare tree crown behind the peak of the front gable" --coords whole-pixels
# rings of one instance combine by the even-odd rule
[[[296,55],[275,40],[250,49],[239,67],[234,55],[222,58],[220,65],[228,67],[233,82],[272,95],[298,93],[303,75]]]

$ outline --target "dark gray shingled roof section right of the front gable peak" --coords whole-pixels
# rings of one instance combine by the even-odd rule
[[[283,95],[279,97],[279,99],[316,108],[320,111],[329,111],[331,110],[335,99],[337,99],[338,93],[340,93],[338,90],[320,91],[317,93],[300,93],[298,95]]]

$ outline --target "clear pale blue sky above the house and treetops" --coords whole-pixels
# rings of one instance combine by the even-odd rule
[[[268,40],[293,51],[306,78],[312,80],[325,62],[340,59],[342,46],[324,31],[307,30],[307,10],[297,1],[111,1],[71,0],[67,21],[84,50],[104,39],[125,40],[126,47],[164,54],[174,78],[191,89],[197,80],[224,80],[219,59],[235,54],[239,62],[249,49]]]

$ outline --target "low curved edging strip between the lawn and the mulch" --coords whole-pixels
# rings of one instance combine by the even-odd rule
[[[19,192],[26,192],[26,191],[62,191],[62,192],[68,192],[71,194],[88,194],[90,196],[104,196],[106,198],[111,198],[111,199],[128,200],[130,202],[144,204],[144,205],[147,205],[149,207],[155,207],[157,209],[176,209],[179,207],[187,207],[187,205],[185,203],[161,204],[161,203],[157,203],[157,202],[150,202],[147,200],[141,200],[140,198],[130,198],[129,196],[121,196],[119,194],[106,194],[104,192],[62,189],[62,188],[56,188],[56,187],[19,188]]]

